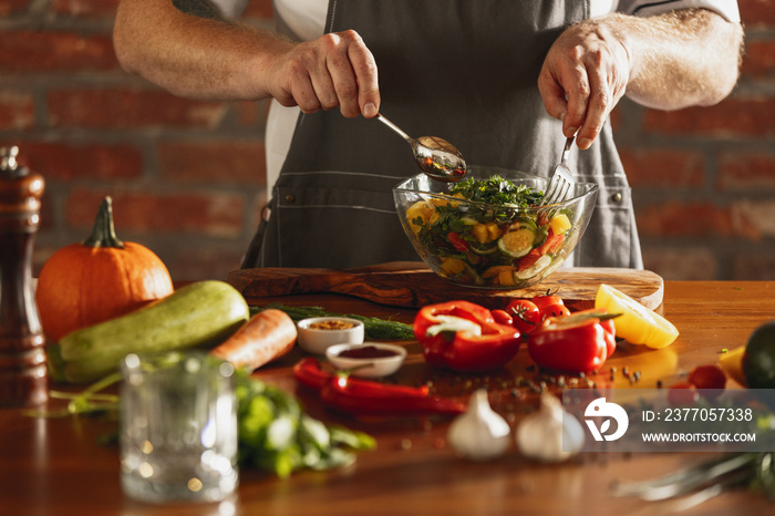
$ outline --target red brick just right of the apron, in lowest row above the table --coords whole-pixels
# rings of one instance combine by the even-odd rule
[[[714,280],[719,275],[719,257],[705,248],[643,246],[643,266],[665,280]]]

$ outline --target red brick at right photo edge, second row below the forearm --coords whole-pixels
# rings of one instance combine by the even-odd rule
[[[720,190],[775,192],[775,154],[725,153],[719,157]]]

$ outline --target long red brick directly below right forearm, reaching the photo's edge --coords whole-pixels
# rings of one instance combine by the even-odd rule
[[[643,127],[651,133],[761,138],[775,134],[773,113],[775,99],[727,99],[709,107],[645,110]]]

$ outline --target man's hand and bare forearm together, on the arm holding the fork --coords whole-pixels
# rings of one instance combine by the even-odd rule
[[[743,29],[706,9],[610,14],[568,28],[538,76],[546,111],[589,148],[627,93],[658,110],[713,105],[740,75]]]

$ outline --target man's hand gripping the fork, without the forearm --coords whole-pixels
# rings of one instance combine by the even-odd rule
[[[589,148],[627,91],[630,55],[607,25],[570,27],[555,41],[538,76],[546,111],[562,121],[566,137]]]

